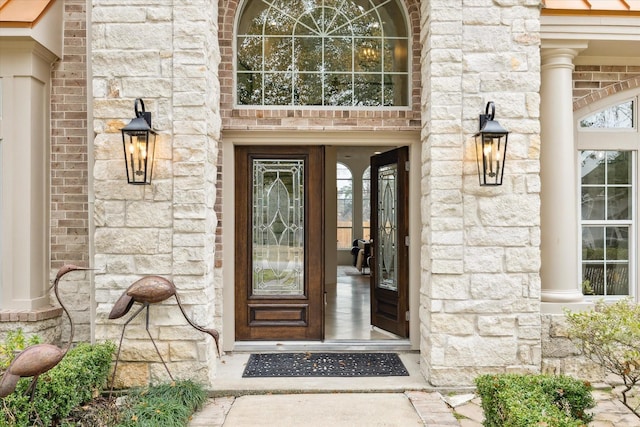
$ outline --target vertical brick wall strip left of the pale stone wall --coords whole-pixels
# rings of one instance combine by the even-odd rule
[[[65,0],[51,83],[51,267],[89,261],[86,2]]]

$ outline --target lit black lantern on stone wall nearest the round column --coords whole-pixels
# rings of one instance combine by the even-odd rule
[[[504,175],[509,131],[494,120],[495,113],[496,106],[492,101],[489,101],[485,113],[480,114],[480,130],[474,135],[478,180],[482,186],[502,185],[502,176]]]

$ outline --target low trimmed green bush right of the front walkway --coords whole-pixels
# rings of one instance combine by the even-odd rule
[[[567,376],[481,375],[475,383],[486,427],[578,427],[595,406],[591,386]]]

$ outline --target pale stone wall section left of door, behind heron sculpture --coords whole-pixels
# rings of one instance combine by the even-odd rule
[[[219,326],[215,271],[217,141],[220,137],[218,2],[94,1],[96,339],[117,340],[124,319],[107,319],[142,275],[175,283],[192,319]],[[120,129],[142,98],[160,131],[150,186],[126,182]],[[210,383],[211,338],[184,320],[173,298],[151,307],[150,333],[177,378]],[[144,330],[132,322],[116,385],[168,377]]]

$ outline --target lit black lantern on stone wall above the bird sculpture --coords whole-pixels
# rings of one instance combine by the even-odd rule
[[[129,184],[149,185],[157,133],[151,128],[151,113],[144,110],[142,99],[135,100],[134,111],[136,117],[121,129],[127,181]]]

